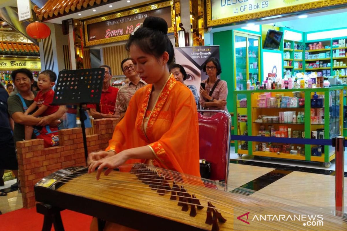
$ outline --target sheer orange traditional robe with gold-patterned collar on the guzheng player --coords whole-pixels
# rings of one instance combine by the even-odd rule
[[[116,125],[106,151],[120,151],[149,145],[156,167],[200,177],[198,117],[194,96],[185,85],[170,75],[152,111],[147,110],[153,85],[137,90],[124,118]],[[144,126],[144,122],[147,122]],[[128,160],[126,164],[146,162]],[[96,218],[91,230],[97,229]],[[106,231],[133,231],[107,222]]]

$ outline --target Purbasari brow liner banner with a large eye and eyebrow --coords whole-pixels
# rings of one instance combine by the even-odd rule
[[[219,60],[219,46],[175,48],[176,63],[181,64],[188,75],[184,81],[186,85],[194,85],[197,90],[200,89],[201,81],[208,78],[208,75],[203,71],[203,67],[210,57],[215,57]]]

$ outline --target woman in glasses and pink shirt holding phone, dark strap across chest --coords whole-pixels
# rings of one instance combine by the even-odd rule
[[[228,112],[228,85],[226,81],[217,78],[217,76],[222,73],[219,60],[214,57],[209,58],[206,61],[203,70],[209,76],[209,78],[201,82],[201,107],[207,110],[225,110]],[[204,115],[207,114],[211,115],[211,113],[205,113]]]

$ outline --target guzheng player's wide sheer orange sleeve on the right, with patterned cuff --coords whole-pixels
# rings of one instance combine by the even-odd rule
[[[194,96],[186,88],[172,100],[170,110],[174,114],[170,129],[151,144],[153,154],[163,168],[200,177],[198,118]]]

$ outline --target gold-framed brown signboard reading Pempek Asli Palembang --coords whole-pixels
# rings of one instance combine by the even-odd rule
[[[117,12],[84,21],[86,46],[124,41],[149,16],[161,17],[168,24],[168,33],[174,32],[173,1],[160,2],[137,9]]]

